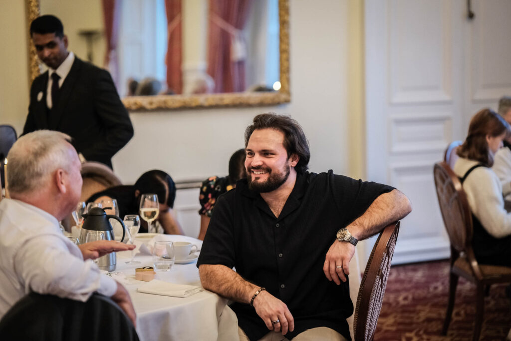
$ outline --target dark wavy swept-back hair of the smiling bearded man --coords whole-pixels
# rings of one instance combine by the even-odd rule
[[[245,148],[248,140],[254,130],[275,129],[284,134],[284,148],[290,157],[296,154],[300,157],[298,164],[294,167],[296,172],[304,173],[309,167],[311,152],[309,151],[309,141],[305,137],[304,130],[290,116],[277,115],[274,112],[261,113],[254,117],[251,125],[245,130]]]

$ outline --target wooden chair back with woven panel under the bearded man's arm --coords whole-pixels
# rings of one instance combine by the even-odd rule
[[[373,340],[387,286],[390,262],[398,239],[400,222],[386,226],[376,240],[358,291],[354,316],[355,340]]]

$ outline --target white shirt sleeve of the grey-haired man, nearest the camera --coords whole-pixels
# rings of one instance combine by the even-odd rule
[[[39,235],[20,245],[14,267],[27,292],[85,302],[94,291],[110,297],[117,290],[117,282],[101,275],[92,261],[69,253],[65,242],[51,234]]]

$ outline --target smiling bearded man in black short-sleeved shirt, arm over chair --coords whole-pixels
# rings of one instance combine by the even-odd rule
[[[218,198],[202,244],[202,285],[235,301],[240,340],[350,339],[357,239],[406,216],[408,198],[331,170],[307,172],[309,144],[287,116],[256,116],[245,151],[247,179]]]

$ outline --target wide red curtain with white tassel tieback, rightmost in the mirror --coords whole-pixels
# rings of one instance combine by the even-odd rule
[[[246,46],[241,35],[251,0],[210,0],[207,73],[216,93],[245,90]]]

